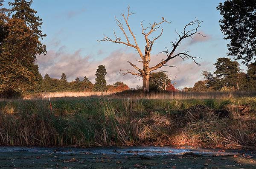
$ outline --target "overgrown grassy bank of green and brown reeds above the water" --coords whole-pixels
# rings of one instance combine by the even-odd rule
[[[0,102],[0,145],[256,146],[256,98]]]

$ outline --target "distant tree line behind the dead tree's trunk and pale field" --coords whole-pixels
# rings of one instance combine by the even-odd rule
[[[67,82],[67,76],[62,73],[60,79],[51,78],[48,74],[45,74],[38,92],[63,92],[63,91],[100,91],[102,93],[109,92],[121,92],[129,90],[128,85],[124,82],[115,82],[113,85],[107,85],[105,76],[107,71],[104,65],[99,65],[96,70],[95,84],[93,84],[87,76],[81,80],[78,77],[72,82]],[[176,91],[175,84],[169,79],[166,72],[160,71],[151,73],[149,80],[150,90],[152,91]],[[137,89],[139,89],[138,87]],[[134,90],[134,88],[132,89]]]

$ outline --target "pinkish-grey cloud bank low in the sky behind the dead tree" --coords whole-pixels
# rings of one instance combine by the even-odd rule
[[[142,64],[135,60],[137,57],[137,54],[128,53],[120,49],[113,51],[101,61],[93,61],[93,56],[82,56],[81,50],[70,54],[66,52],[66,47],[62,46],[57,51],[50,50],[46,56],[38,57],[37,63],[39,71],[43,76],[45,73],[48,73],[52,78],[60,78],[61,73],[66,73],[69,81],[74,80],[76,77],[82,79],[84,76],[87,76],[93,83],[95,82],[96,68],[99,65],[105,65],[108,84],[122,81],[129,85],[129,87],[136,87],[136,85],[142,85],[142,80],[139,81],[139,78],[130,74],[123,76],[119,71],[120,69],[132,69],[127,60],[142,68]],[[164,55],[152,56],[151,66],[161,62],[164,57]],[[177,68],[163,67],[160,70],[168,71],[171,78],[177,76],[176,82],[179,88],[193,86],[201,78],[201,72],[211,68],[210,63],[207,62],[201,62],[201,66],[198,66],[191,61],[183,61],[180,58],[171,60],[169,65],[175,65]]]

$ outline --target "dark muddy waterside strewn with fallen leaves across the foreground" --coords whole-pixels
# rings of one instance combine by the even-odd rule
[[[172,147],[0,147],[1,169],[254,169],[256,152]],[[163,150],[163,151],[159,151]],[[207,152],[208,150],[208,152]],[[170,152],[167,152],[170,151]]]

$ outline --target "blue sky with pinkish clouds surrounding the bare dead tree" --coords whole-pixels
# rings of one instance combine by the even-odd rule
[[[172,76],[179,77],[177,81],[180,82],[180,85],[177,83],[178,87],[192,86],[194,82],[201,79],[200,71],[203,69],[212,71],[214,68],[213,63],[216,62],[216,59],[225,57],[227,53],[227,42],[223,39],[224,36],[218,23],[221,16],[216,10],[216,6],[220,2],[223,2],[223,0],[34,0],[32,8],[38,11],[38,15],[43,19],[42,30],[47,34],[43,42],[47,45],[47,50],[49,51],[47,56],[42,57],[43,59],[38,59],[38,65],[41,67],[40,71],[43,75],[44,73],[49,73],[52,77],[58,77],[58,74],[62,73],[54,70],[58,62],[58,66],[61,67],[58,67],[59,70],[70,74],[69,80],[74,79],[75,76],[83,77],[84,74],[90,74],[89,77],[93,81],[95,71],[93,73],[87,72],[86,69],[80,66],[79,68],[83,70],[77,72],[83,75],[75,73],[76,70],[73,70],[73,73],[69,73],[69,64],[60,64],[61,59],[59,58],[56,61],[54,56],[61,55],[62,59],[69,58],[72,60],[72,57],[79,55],[79,59],[77,59],[79,63],[77,64],[81,64],[81,61],[83,61],[87,62],[85,65],[93,65],[94,67],[96,67],[97,62],[104,64],[111,57],[119,57],[114,55],[118,52],[120,55],[124,54],[123,56],[125,57],[128,55],[136,57],[136,51],[133,48],[127,48],[111,42],[97,41],[103,38],[102,34],[113,37],[113,29],[122,37],[116,26],[114,16],[122,19],[121,13],[126,13],[129,5],[130,11],[135,13],[129,18],[129,23],[141,48],[144,48],[144,39],[140,26],[142,20],[144,20],[145,26],[154,21],[160,21],[162,17],[172,21],[170,24],[163,24],[163,36],[154,45],[152,54],[157,54],[160,51],[164,51],[165,47],[171,46],[170,41],[177,38],[175,28],[177,28],[177,31],[182,30],[184,25],[195,17],[204,21],[199,31],[207,37],[198,41],[195,39],[194,42],[192,42],[192,39],[186,40],[183,42],[182,47],[182,49],[189,51],[190,54],[202,58],[198,60],[198,62],[202,63],[202,67],[195,68],[196,72],[189,72],[198,76],[185,82],[188,77],[183,76],[185,74],[185,72],[181,72],[183,67],[180,67],[179,70],[178,68],[177,70],[175,68],[169,70]],[[131,58],[131,60],[133,59]],[[73,64],[76,64],[76,62],[73,62]],[[113,63],[115,65],[112,66],[111,63],[109,64],[108,67],[112,68],[117,63]],[[191,61],[186,61],[185,64],[191,64]],[[76,67],[76,65],[72,66]],[[179,65],[176,66],[178,67]],[[184,64],[183,66],[186,67]],[[193,66],[197,67],[196,65]],[[127,67],[130,68],[129,65]],[[93,69],[91,68],[90,71],[93,71]],[[191,71],[193,70],[191,68]],[[134,86],[134,83],[138,81],[138,79],[128,81],[131,76],[124,78],[113,74],[112,70],[109,72],[112,72],[107,78],[109,83],[113,82],[111,80],[113,76],[116,76],[116,78],[113,78],[114,80],[125,81],[130,86]],[[138,82],[136,85],[141,85],[140,83],[142,82]]]

